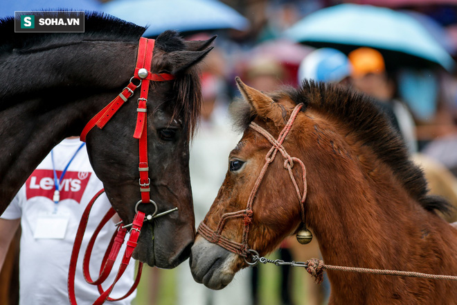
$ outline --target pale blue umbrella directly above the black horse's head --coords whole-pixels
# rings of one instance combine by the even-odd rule
[[[143,34],[146,37],[164,30],[244,30],[249,25],[236,10],[216,0],[114,0],[105,4],[104,11],[149,26]]]

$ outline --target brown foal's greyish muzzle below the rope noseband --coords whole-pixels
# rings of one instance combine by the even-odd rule
[[[190,270],[197,283],[219,290],[232,281],[238,259],[238,255],[197,236],[190,254]]]

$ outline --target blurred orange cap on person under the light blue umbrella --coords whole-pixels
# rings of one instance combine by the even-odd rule
[[[386,71],[384,58],[379,51],[370,48],[359,48],[349,53],[352,64],[352,77],[360,78],[368,73],[383,73]]]

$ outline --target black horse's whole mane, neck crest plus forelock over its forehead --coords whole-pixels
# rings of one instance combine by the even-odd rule
[[[43,11],[43,13],[46,11]],[[49,12],[46,12],[48,14]],[[40,13],[34,12],[36,18]],[[48,16],[47,16],[48,17]],[[14,17],[0,19],[0,62],[2,55],[33,53],[60,46],[91,41],[120,41],[138,44],[146,28],[99,12],[85,12],[84,33],[15,33]],[[165,30],[156,38],[156,48],[166,53],[186,50],[185,40],[174,30]],[[173,117],[180,116],[192,136],[199,121],[201,87],[198,67],[190,67],[174,82],[174,94],[170,96]]]

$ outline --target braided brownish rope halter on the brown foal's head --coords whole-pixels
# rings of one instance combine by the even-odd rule
[[[285,128],[280,132],[277,140],[274,139],[274,137],[269,132],[267,132],[267,130],[261,128],[256,123],[251,122],[249,127],[253,128],[253,130],[256,130],[257,132],[262,134],[265,138],[267,138],[267,140],[271,143],[272,147],[269,150],[269,152],[267,153],[267,155],[265,156],[265,164],[262,168],[262,171],[260,171],[260,174],[256,180],[256,184],[254,184],[254,186],[253,186],[251,194],[249,195],[246,209],[241,210],[241,211],[226,213],[226,214],[222,215],[215,230],[210,229],[210,227],[208,227],[208,225],[206,225],[203,221],[200,223],[200,225],[198,227],[198,232],[199,232],[199,234],[201,234],[201,236],[206,238],[207,241],[209,241],[210,243],[215,243],[217,245],[220,245],[221,247],[223,247],[224,249],[226,249],[230,252],[243,256],[245,259],[247,259],[251,254],[253,254],[253,250],[251,250],[249,248],[249,243],[248,243],[249,227],[251,225],[252,218],[253,218],[252,205],[253,205],[254,199],[256,198],[256,194],[257,194],[258,188],[260,186],[260,183],[262,182],[263,177],[265,176],[265,173],[267,172],[267,168],[274,161],[274,158],[276,157],[276,154],[278,152],[280,152],[280,154],[283,155],[283,157],[284,157],[284,168],[287,169],[287,171],[289,171],[290,179],[292,180],[292,183],[294,184],[294,188],[298,195],[298,201],[300,202],[301,218],[302,218],[303,224],[305,223],[305,209],[303,207],[303,203],[305,202],[306,191],[307,191],[305,164],[303,164],[301,159],[298,159],[296,157],[290,157],[290,155],[287,154],[287,152],[283,146],[283,142],[284,142],[285,138],[287,137],[287,134],[289,133],[290,129],[292,128],[292,124],[294,123],[296,116],[297,116],[298,112],[300,112],[302,106],[303,106],[303,104],[296,105],[296,107],[292,111],[289,121],[287,121]],[[303,193],[301,193],[301,191],[298,187],[298,184],[295,180],[294,173],[292,173],[292,168],[294,167],[294,162],[297,162],[298,164],[300,164],[301,168],[302,168]],[[228,220],[230,220],[231,218],[243,218],[243,234],[242,234],[241,243],[232,241],[231,239],[228,239],[225,236],[222,236],[222,230],[224,229],[226,222]]]

